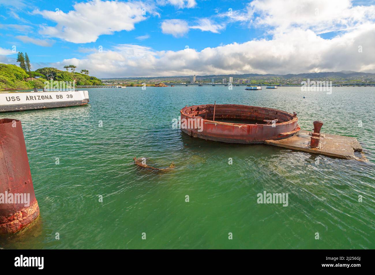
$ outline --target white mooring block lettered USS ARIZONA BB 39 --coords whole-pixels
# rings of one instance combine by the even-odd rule
[[[0,112],[80,106],[87,103],[88,91],[0,92]]]

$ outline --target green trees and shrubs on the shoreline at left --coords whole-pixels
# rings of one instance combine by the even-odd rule
[[[30,60],[27,53],[19,52],[17,62],[20,66],[0,63],[0,90],[27,90],[43,88],[45,81],[75,82],[75,85],[103,85],[102,81],[94,76],[89,76],[88,70],[75,72],[75,65],[66,65],[66,71],[57,68],[40,68],[31,71]],[[69,68],[71,72],[68,71]]]

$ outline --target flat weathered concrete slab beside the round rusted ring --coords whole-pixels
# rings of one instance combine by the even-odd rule
[[[342,135],[324,134],[321,133],[320,143],[318,148],[310,147],[311,131],[300,130],[296,135],[293,135],[282,140],[266,140],[264,144],[284,147],[288,149],[300,150],[309,153],[333,156],[344,159],[357,159],[359,161],[366,161],[366,158],[358,158],[354,156],[355,151],[362,151],[362,146],[354,137],[345,137]]]

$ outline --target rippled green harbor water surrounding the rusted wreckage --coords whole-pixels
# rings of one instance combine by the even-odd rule
[[[0,248],[375,248],[375,87],[88,90],[86,106],[1,113],[22,122],[40,217]],[[172,128],[182,107],[214,101],[295,111],[306,130],[322,120],[368,162]],[[135,156],[175,169],[147,171]],[[288,206],[258,204],[264,191],[288,193]]]

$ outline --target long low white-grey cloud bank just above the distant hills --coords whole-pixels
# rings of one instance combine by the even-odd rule
[[[358,46],[362,46],[363,52],[358,52]],[[75,64],[98,77],[341,70],[375,73],[374,52],[375,24],[363,24],[333,39],[323,39],[312,30],[293,28],[275,34],[272,40],[231,43],[202,51],[154,51],[144,46],[118,45],[83,59],[67,59],[53,65]]]

